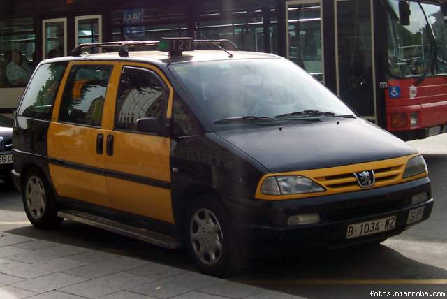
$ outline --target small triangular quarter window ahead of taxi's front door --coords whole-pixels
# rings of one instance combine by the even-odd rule
[[[175,136],[191,136],[200,133],[200,125],[188,106],[174,96],[173,101],[173,133]]]

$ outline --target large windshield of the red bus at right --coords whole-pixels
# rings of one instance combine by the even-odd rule
[[[424,73],[429,76],[446,74],[446,29],[441,6],[410,1],[410,10],[410,24],[402,25],[399,1],[388,0],[390,75],[406,78],[419,77]],[[433,53],[433,38],[441,44],[436,53]],[[433,54],[436,54],[434,59]]]

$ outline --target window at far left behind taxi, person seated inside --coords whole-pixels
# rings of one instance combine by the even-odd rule
[[[0,21],[0,88],[24,87],[36,64],[33,19]]]

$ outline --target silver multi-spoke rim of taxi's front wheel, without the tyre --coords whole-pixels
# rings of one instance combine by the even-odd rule
[[[223,233],[216,215],[208,209],[198,210],[191,219],[190,238],[194,253],[205,265],[218,263],[223,253]]]

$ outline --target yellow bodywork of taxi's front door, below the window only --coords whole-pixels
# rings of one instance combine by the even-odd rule
[[[110,131],[113,156],[106,168],[118,173],[170,183],[170,139],[137,133]],[[107,177],[110,203],[117,210],[173,222],[170,190],[129,180]]]

